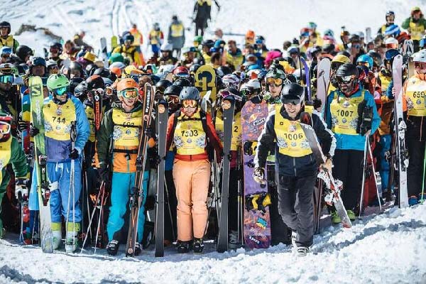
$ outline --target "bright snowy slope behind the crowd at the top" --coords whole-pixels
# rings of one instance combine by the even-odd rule
[[[365,31],[371,27],[374,33],[385,23],[385,13],[395,11],[395,23],[399,25],[410,16],[413,6],[426,6],[425,0],[217,0],[222,6],[219,13],[212,5],[211,28],[222,28],[225,33],[246,33],[251,29],[266,37],[271,48],[281,48],[284,40],[300,33],[300,28],[313,21],[320,32],[332,28],[337,38],[342,26],[351,32]],[[147,38],[154,22],[167,34],[173,14],[178,15],[185,26],[192,28],[190,17],[195,0],[14,0],[3,2],[1,21],[10,21],[12,32],[21,23],[50,28],[64,40],[77,31],[87,33],[86,40],[94,46],[99,38],[121,34],[137,23]],[[425,10],[424,9],[424,10]],[[187,44],[192,44],[193,31],[187,31]],[[226,37],[229,38],[229,37]],[[242,37],[234,37],[242,40]],[[47,42],[23,38],[23,43],[43,47]]]

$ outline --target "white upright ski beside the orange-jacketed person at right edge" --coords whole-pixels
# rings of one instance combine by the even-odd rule
[[[408,149],[405,146],[405,130],[407,125],[403,116],[403,56],[396,55],[392,66],[393,87],[395,88],[395,139],[396,163],[398,163],[398,201],[399,207],[408,207],[407,170]]]

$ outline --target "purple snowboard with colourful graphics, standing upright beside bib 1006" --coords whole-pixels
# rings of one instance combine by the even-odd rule
[[[271,218],[269,207],[263,207],[268,197],[267,185],[253,180],[254,154],[258,136],[268,117],[268,103],[249,101],[241,109],[241,140],[252,144],[253,153],[243,153],[244,165],[244,242],[250,249],[266,249],[271,245]],[[266,177],[265,177],[266,178]],[[254,203],[253,203],[254,202]],[[261,205],[260,207],[258,205]]]

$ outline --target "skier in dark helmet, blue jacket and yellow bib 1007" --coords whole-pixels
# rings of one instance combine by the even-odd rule
[[[359,83],[359,71],[355,65],[340,66],[335,77],[338,87],[327,98],[326,120],[337,139],[333,176],[343,182],[342,201],[353,221],[361,196],[366,135],[370,136],[378,129],[381,119],[373,95],[362,89]],[[341,222],[335,211],[332,211],[332,222]]]

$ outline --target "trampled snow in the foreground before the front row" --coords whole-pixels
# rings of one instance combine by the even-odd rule
[[[297,257],[289,246],[179,255],[143,251],[126,258],[104,251],[45,254],[35,246],[0,240],[0,283],[426,283],[426,205],[396,207],[315,236],[312,253]]]

